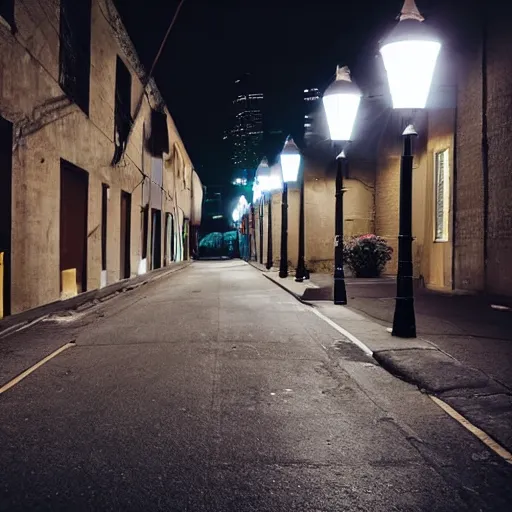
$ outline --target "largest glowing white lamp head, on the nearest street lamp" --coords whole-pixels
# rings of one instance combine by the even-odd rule
[[[393,108],[425,108],[441,42],[423,23],[414,0],[405,0],[398,25],[380,49]]]

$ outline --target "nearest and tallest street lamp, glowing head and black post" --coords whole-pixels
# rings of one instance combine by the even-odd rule
[[[389,82],[394,109],[423,109],[441,50],[439,38],[423,24],[414,0],[405,0],[398,25],[383,41],[380,53]],[[400,220],[398,272],[393,336],[416,337],[412,262],[412,124],[403,132],[400,163]]]

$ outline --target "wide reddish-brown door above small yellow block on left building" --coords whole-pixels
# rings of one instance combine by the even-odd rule
[[[78,293],[87,290],[87,202],[89,175],[61,160],[60,270],[76,269]]]

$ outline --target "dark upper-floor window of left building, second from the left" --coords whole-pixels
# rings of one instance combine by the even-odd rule
[[[116,146],[112,165],[118,164],[128,142],[132,127],[132,75],[124,62],[117,57],[116,91],[114,106],[114,143]]]

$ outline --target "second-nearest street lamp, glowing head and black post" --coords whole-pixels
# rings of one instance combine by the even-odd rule
[[[350,79],[347,66],[336,69],[336,80],[324,93],[323,103],[331,140],[342,149],[343,142],[352,139],[361,90]],[[336,220],[334,228],[334,304],[347,303],[345,272],[343,270],[343,174],[346,173],[347,159],[344,151],[336,157]]]

